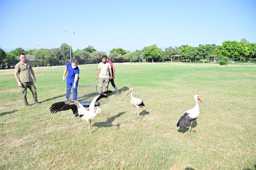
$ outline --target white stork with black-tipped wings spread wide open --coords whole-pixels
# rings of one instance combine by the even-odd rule
[[[106,94],[110,94],[111,92],[112,92],[111,90],[108,90],[108,91],[102,92],[98,96],[96,96],[92,100],[92,102],[91,102],[91,104],[89,106],[89,111],[87,111],[82,106],[82,104],[79,103],[78,101],[62,101],[62,102],[57,102],[57,103],[52,104],[52,106],[50,108],[50,112],[51,113],[57,113],[59,111],[71,109],[76,117],[78,117],[78,116],[80,117],[78,122],[86,120],[86,122],[89,124],[90,136],[92,136],[92,133],[91,133],[91,121],[92,121],[92,119],[94,119],[95,116],[98,113],[100,113],[100,115],[102,117],[101,109],[100,108],[97,108],[96,112],[94,112],[95,102],[97,102],[101,98],[108,98],[106,96]]]

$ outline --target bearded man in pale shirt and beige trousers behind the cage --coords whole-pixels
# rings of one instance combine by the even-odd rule
[[[101,61],[102,62],[100,62],[98,65],[98,72],[96,76],[96,80],[98,80],[98,76],[99,76],[99,93],[102,92],[103,83],[105,85],[104,90],[105,91],[108,90],[109,79],[113,78],[110,63],[107,62],[107,56],[103,55],[101,57]],[[110,72],[110,76],[109,76],[109,72]]]

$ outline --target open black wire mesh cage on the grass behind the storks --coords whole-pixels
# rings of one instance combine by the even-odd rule
[[[74,101],[73,91],[77,91],[77,99],[83,106],[89,106],[94,97],[98,96],[97,85],[76,86],[75,88],[69,87],[67,91],[70,91],[69,101]],[[95,102],[95,106],[99,106],[98,101]]]

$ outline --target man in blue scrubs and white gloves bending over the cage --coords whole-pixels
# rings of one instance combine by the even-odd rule
[[[64,101],[68,101],[68,98],[70,97],[70,91],[71,88],[73,88],[73,99],[76,101],[77,99],[77,89],[75,88],[78,86],[78,80],[79,80],[79,68],[77,67],[78,61],[74,59],[71,62],[68,62],[66,64],[66,68],[63,73],[62,80],[65,81],[65,75],[67,73],[67,94],[66,99]]]

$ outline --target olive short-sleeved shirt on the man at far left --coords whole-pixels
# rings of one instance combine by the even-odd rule
[[[19,72],[20,82],[30,82],[33,81],[30,73],[30,68],[32,68],[30,62],[26,61],[27,65],[25,66],[21,62],[18,62],[15,66],[15,70]]]

